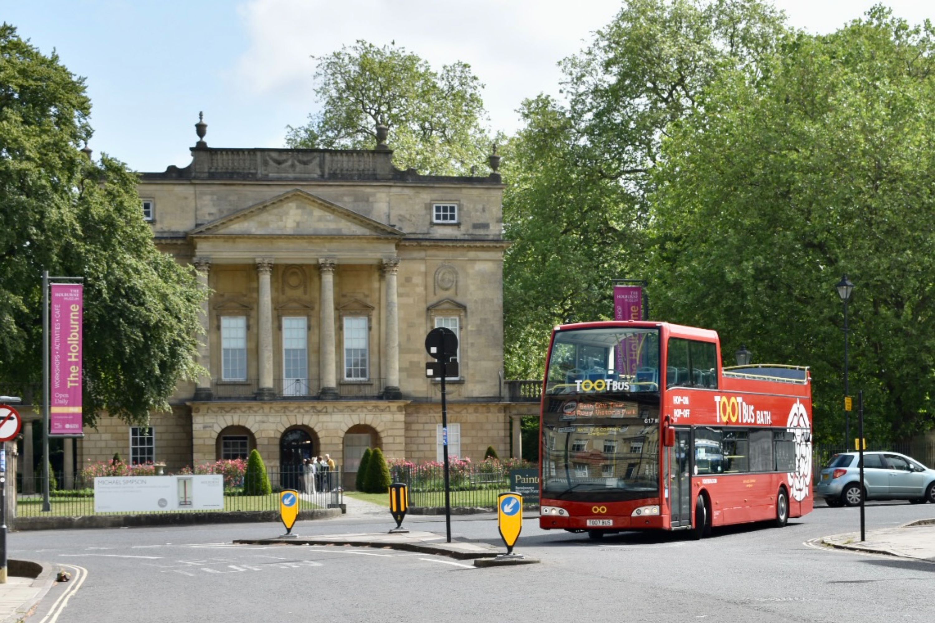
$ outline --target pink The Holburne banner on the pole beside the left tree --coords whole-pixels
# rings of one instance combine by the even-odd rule
[[[52,284],[49,434],[81,434],[83,286]]]

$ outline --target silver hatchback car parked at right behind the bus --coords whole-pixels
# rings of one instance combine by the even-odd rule
[[[860,496],[868,500],[908,500],[935,503],[935,470],[897,452],[864,452],[864,486],[856,452],[831,457],[818,474],[816,497],[828,506],[856,506]]]

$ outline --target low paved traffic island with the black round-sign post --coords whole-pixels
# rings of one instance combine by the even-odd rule
[[[492,558],[502,554],[502,549],[486,543],[453,541],[445,543],[445,537],[435,532],[354,532],[350,534],[329,534],[314,537],[296,536],[284,539],[237,539],[237,545],[356,545],[364,547],[385,547],[420,554],[435,554],[458,560]]]

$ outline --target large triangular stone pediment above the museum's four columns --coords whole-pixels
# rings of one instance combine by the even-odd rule
[[[194,235],[402,236],[404,232],[310,192],[284,192],[212,220]]]

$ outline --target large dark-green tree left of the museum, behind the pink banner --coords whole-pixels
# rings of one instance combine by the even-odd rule
[[[154,246],[137,177],[79,149],[91,103],[52,53],[0,26],[0,379],[41,377],[41,275],[84,276],[84,422],[146,423],[194,378],[194,270]]]

